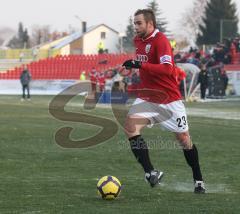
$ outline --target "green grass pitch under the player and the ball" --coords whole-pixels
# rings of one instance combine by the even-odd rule
[[[144,137],[156,168],[165,172],[162,186],[151,189],[131,154],[122,129],[104,144],[63,149],[54,142],[61,127],[73,137],[92,136],[99,128],[62,122],[48,112],[51,96],[20,102],[0,96],[0,213],[240,213],[240,121],[189,117],[198,146],[207,194],[192,193],[191,170],[171,133],[155,127]],[[74,99],[68,110],[79,112]],[[239,111],[240,102],[192,103],[190,108]],[[87,113],[113,118],[109,109]],[[159,137],[158,137],[159,136]],[[161,137],[160,137],[161,136]],[[158,143],[155,143],[159,141]],[[114,201],[96,194],[97,179],[114,175],[123,190]]]

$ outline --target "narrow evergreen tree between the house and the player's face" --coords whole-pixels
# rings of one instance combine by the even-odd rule
[[[129,17],[129,23],[126,28],[126,36],[123,38],[123,48],[126,52],[133,52],[134,51],[134,44],[133,44],[133,38],[135,36],[134,33],[134,24],[133,24],[133,18]]]

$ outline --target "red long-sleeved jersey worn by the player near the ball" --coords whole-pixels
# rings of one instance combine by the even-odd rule
[[[146,39],[135,37],[134,43],[136,58],[142,62],[142,67],[139,69],[140,90],[137,96],[159,104],[180,100],[181,94],[175,72],[172,48],[166,36],[156,29]],[[165,72],[158,69],[158,65],[166,64],[169,66]],[[170,69],[169,72],[168,69]]]

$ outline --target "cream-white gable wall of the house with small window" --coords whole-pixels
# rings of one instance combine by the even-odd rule
[[[101,32],[106,33],[106,38],[101,39]],[[105,25],[101,25],[90,31],[83,38],[83,54],[97,54],[98,44],[103,42],[104,48],[108,49],[109,53],[119,53],[117,45],[119,44],[119,34]]]

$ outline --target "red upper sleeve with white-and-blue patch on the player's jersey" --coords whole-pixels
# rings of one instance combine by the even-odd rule
[[[170,64],[173,65],[173,55],[170,42],[166,36],[161,35],[158,39],[157,48],[157,59],[160,64]]]

